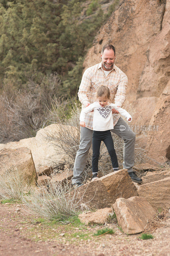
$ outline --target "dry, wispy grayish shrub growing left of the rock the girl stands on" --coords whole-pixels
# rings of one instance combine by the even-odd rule
[[[47,188],[40,192],[30,188],[30,195],[23,196],[22,201],[32,211],[48,220],[60,223],[74,222],[81,213],[81,199],[76,200],[76,193],[72,191],[69,181],[56,182],[55,175],[48,181]],[[75,202],[76,201],[76,202]]]

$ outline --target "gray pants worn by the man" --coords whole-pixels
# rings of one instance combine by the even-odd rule
[[[124,140],[123,167],[128,169],[128,172],[132,172],[135,159],[135,133],[128,128],[128,124],[123,120],[122,117],[119,118],[117,124],[114,126],[114,129],[110,131],[117,134],[117,136]],[[73,184],[83,182],[82,177],[84,168],[86,166],[86,159],[92,144],[92,133],[93,130],[86,127],[81,127],[80,146],[75,157],[73,169]]]

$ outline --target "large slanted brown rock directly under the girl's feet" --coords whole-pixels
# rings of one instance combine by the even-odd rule
[[[111,207],[119,197],[138,196],[126,169],[111,172],[77,188],[75,198],[89,207]]]

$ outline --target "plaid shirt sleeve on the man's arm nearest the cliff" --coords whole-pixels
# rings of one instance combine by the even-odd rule
[[[117,93],[115,94],[115,104],[117,106],[123,107],[124,102],[126,100],[126,89],[128,84],[128,78],[123,73],[123,75],[120,78],[120,82],[117,86]]]

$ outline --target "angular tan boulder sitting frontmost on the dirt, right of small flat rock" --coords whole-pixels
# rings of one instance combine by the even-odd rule
[[[140,196],[118,198],[113,204],[119,227],[126,234],[136,234],[144,231],[148,220],[151,220],[156,211]]]

